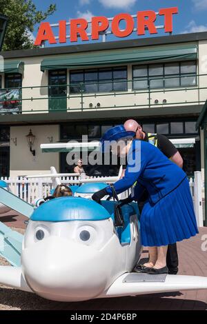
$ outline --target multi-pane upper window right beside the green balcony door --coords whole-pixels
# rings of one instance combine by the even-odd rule
[[[127,67],[70,72],[70,93],[126,91]]]

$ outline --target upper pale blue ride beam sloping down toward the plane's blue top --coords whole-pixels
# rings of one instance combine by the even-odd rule
[[[32,212],[34,212],[34,207],[30,205],[30,203],[26,203],[26,201],[23,201],[3,188],[0,188],[0,203],[3,203],[3,205],[10,207],[12,210],[28,218],[30,218]]]

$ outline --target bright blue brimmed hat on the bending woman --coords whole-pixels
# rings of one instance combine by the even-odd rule
[[[100,144],[102,148],[102,152],[104,152],[107,148],[105,141],[118,141],[119,139],[123,139],[124,137],[134,137],[135,132],[127,132],[124,128],[124,125],[118,125],[107,130],[100,139]]]

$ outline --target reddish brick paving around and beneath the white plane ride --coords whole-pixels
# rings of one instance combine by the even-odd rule
[[[0,221],[21,229],[20,232],[26,227],[25,220],[15,212],[0,216]],[[202,236],[207,241],[207,227],[201,227],[199,234],[192,239],[177,244],[179,274],[207,276],[207,243],[204,252],[201,250]],[[3,264],[2,259],[0,263]],[[0,310],[207,310],[207,290],[59,303],[0,285]]]

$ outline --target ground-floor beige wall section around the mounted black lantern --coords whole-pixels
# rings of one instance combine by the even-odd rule
[[[36,136],[33,156],[28,148],[26,135],[32,130]],[[48,173],[50,166],[55,166],[59,172],[59,153],[42,153],[40,144],[49,143],[48,136],[53,137],[53,143],[59,141],[59,125],[18,126],[10,128],[10,176]],[[17,138],[17,146],[12,139]]]

